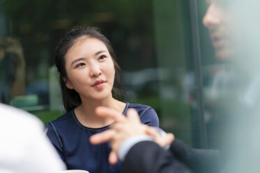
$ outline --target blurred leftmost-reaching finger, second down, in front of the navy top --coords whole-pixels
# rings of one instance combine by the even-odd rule
[[[92,144],[102,144],[112,140],[115,135],[115,130],[109,129],[102,133],[97,133],[89,137],[89,142]]]

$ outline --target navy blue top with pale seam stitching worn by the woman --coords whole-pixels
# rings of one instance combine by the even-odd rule
[[[136,109],[142,123],[148,126],[159,126],[157,113],[152,107],[127,103],[123,114],[129,108]],[[75,116],[74,110],[66,112],[55,121],[50,121],[46,126],[47,135],[68,170],[87,170],[90,173],[119,172],[120,162],[116,165],[108,163],[108,155],[111,151],[108,142],[99,145],[89,143],[91,135],[101,133],[108,127],[88,128],[83,126]]]

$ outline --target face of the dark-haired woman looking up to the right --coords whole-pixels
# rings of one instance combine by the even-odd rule
[[[80,98],[102,100],[112,96],[115,78],[113,59],[106,45],[96,38],[79,38],[66,54],[66,87]]]

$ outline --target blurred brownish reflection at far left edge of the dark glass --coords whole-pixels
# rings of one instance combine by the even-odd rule
[[[1,102],[9,104],[25,93],[25,61],[17,38],[0,38]]]

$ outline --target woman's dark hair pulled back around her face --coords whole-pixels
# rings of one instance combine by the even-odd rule
[[[55,49],[55,64],[59,72],[59,84],[62,89],[62,100],[66,112],[73,110],[81,104],[80,95],[74,89],[68,89],[66,87],[66,81],[68,75],[65,68],[65,56],[68,50],[77,42],[78,38],[85,36],[87,38],[96,38],[101,40],[106,47],[108,52],[113,59],[115,68],[115,82],[112,89],[113,98],[121,99],[123,94],[123,75],[120,66],[116,62],[116,55],[110,41],[103,36],[103,34],[96,27],[73,27],[69,30],[65,36],[59,40]]]

